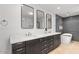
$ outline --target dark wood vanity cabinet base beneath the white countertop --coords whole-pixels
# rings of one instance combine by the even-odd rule
[[[13,54],[47,54],[60,45],[60,35],[12,44]]]

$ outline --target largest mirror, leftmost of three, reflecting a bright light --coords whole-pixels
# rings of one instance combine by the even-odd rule
[[[34,9],[24,4],[21,6],[21,28],[34,28]]]

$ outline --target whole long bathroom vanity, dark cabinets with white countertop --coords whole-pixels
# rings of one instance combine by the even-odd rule
[[[60,33],[44,34],[35,37],[11,38],[13,54],[47,54],[57,48],[60,41]]]

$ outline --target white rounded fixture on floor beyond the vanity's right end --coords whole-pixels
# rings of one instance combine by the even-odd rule
[[[61,35],[61,43],[62,44],[69,44],[72,39],[72,34],[70,33],[64,33]]]

